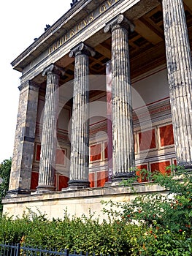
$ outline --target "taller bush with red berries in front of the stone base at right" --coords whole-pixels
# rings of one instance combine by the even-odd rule
[[[173,170],[175,167],[172,167]],[[178,168],[178,167],[177,167]],[[167,190],[167,195],[158,193],[137,196],[130,204],[124,203],[123,216],[128,222],[133,219],[148,227],[161,226],[174,233],[185,231],[192,234],[192,176],[182,168],[176,173],[153,175],[153,184]]]

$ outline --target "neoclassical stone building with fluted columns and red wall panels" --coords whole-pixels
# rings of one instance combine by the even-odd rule
[[[12,61],[20,99],[4,212],[82,214],[130,200],[118,184],[135,167],[191,168],[191,45],[191,0],[80,0],[46,26]]]

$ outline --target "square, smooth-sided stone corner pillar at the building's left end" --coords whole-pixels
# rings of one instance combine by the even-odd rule
[[[7,196],[29,194],[31,186],[39,84],[28,80],[19,89],[18,120]]]

